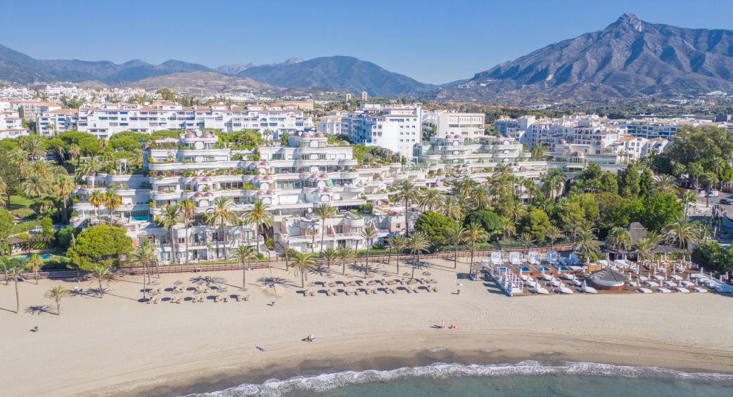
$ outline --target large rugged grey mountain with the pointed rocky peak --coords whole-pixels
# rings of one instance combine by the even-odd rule
[[[715,90],[733,91],[733,31],[678,28],[625,14],[603,30],[476,73],[435,98],[522,104]]]

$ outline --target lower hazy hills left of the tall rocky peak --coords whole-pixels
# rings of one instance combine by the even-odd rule
[[[290,58],[279,64],[226,64],[211,69],[174,59],[158,65],[140,59],[122,64],[79,59],[33,59],[2,45],[0,80],[20,84],[36,81],[101,82],[111,86],[144,88],[166,84],[180,89],[216,86],[218,92],[241,89],[366,91],[372,96],[415,94],[437,88],[350,56],[326,56],[307,61]],[[202,81],[212,84],[202,84]]]

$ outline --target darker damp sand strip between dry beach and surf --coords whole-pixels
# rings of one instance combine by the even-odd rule
[[[451,334],[446,335],[443,332]],[[99,389],[86,390],[80,395],[185,396],[243,384],[259,385],[271,379],[284,381],[297,376],[318,376],[345,371],[391,371],[435,363],[482,366],[513,365],[524,361],[537,361],[545,366],[598,363],[733,376],[733,352],[650,341],[601,341],[600,338],[575,338],[571,335],[494,330],[472,330],[465,333],[462,330],[435,330],[390,334],[371,335],[372,340],[366,344],[356,338],[358,335],[322,338],[314,342],[322,346],[317,346],[317,349],[311,349],[306,354],[291,352],[287,347],[284,350],[269,348],[268,352],[262,353],[268,357],[254,368],[251,363],[235,364],[236,355],[232,354],[229,357],[231,362],[218,369],[189,369],[158,374],[155,379],[148,381],[138,379],[113,383]],[[522,342],[521,338],[542,339],[542,344]],[[424,347],[420,348],[416,344]],[[470,348],[469,345],[474,347]],[[382,346],[382,349],[375,349],[377,346]],[[384,349],[385,347],[389,349]]]

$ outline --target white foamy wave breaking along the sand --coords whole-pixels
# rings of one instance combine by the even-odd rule
[[[372,382],[388,382],[396,379],[432,378],[446,379],[460,376],[512,376],[512,375],[593,375],[626,378],[688,379],[701,381],[733,381],[733,375],[706,372],[688,373],[659,367],[614,366],[600,363],[564,363],[561,366],[544,366],[537,361],[516,364],[464,365],[435,363],[423,367],[403,367],[389,371],[344,371],[317,376],[295,376],[286,380],[270,379],[262,385],[245,384],[211,393],[191,394],[186,397],[239,397],[282,396],[287,393],[320,393],[347,385]]]

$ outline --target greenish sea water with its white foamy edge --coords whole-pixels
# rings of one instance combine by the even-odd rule
[[[463,365],[345,371],[271,379],[196,397],[733,396],[733,375],[599,363]]]

